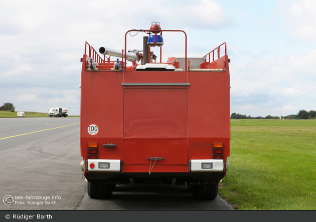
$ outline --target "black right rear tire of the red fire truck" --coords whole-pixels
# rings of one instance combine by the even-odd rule
[[[199,184],[192,187],[192,195],[195,199],[215,199],[218,193],[218,182],[214,184]]]

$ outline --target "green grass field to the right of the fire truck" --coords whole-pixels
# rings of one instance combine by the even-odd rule
[[[316,209],[316,120],[231,120],[219,193],[240,210]]]

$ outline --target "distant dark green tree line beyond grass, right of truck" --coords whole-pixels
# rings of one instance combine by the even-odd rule
[[[247,116],[247,115],[243,115],[243,114],[239,114],[239,113],[233,112],[231,114],[230,118],[237,118],[237,119],[279,119],[280,116],[267,115],[265,117],[263,117],[263,116],[251,117],[250,115]],[[310,119],[310,118],[316,118],[316,110],[306,111],[304,109],[300,109],[297,112],[297,114],[281,116],[281,118],[284,118],[284,119]]]

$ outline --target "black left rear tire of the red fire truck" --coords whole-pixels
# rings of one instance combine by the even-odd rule
[[[109,198],[113,193],[113,184],[88,182],[88,195],[93,198]]]

